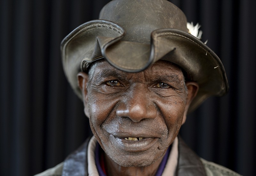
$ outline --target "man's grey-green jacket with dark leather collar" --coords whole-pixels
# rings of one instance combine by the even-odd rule
[[[88,176],[87,147],[85,143],[59,165],[35,176]],[[179,159],[176,169],[177,176],[239,176],[238,173],[221,165],[199,158],[179,137]]]

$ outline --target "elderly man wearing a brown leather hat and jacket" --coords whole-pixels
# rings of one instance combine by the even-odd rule
[[[220,59],[195,30],[166,0],[114,0],[71,32],[63,67],[94,136],[39,175],[238,175],[177,137],[189,112],[228,91]]]

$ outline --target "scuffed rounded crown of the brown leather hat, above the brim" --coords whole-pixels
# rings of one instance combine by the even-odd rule
[[[126,30],[122,40],[150,43],[152,31],[174,28],[188,32],[185,14],[166,0],[114,0],[100,11],[99,19],[117,23]]]

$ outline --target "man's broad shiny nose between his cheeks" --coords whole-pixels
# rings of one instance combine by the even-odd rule
[[[145,91],[136,91],[119,103],[116,115],[129,117],[133,122],[140,122],[142,119],[156,118],[157,109],[152,98],[147,97]]]

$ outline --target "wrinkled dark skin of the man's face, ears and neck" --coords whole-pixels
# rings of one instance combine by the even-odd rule
[[[103,60],[89,74],[79,73],[78,84],[92,132],[106,153],[108,175],[155,175],[198,85],[186,82],[186,90],[180,68],[163,60],[139,73]]]

